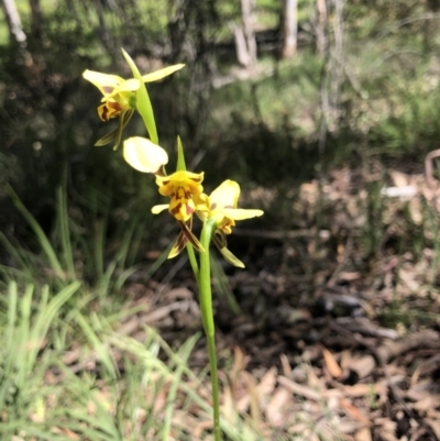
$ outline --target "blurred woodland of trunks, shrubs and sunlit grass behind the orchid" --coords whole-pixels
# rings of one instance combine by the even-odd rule
[[[185,63],[148,85],[161,143],[183,139],[207,188],[226,177],[262,189],[261,222],[295,228],[299,186],[336,167],[422,169],[440,120],[439,8],[403,1],[3,0],[0,27],[0,222],[25,235],[9,183],[45,230],[54,191],[70,209],[127,221],[155,194],[121,152],[94,143],[116,125],[97,118],[87,69],[130,76]],[[139,119],[124,136],[142,133]],[[377,170],[376,170],[377,172]],[[381,175],[382,177],[382,175]],[[122,217],[120,219],[119,217]],[[161,221],[160,221],[161,222]],[[152,224],[151,228],[153,227]]]

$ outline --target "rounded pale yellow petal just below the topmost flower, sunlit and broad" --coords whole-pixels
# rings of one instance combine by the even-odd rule
[[[141,136],[124,141],[123,157],[133,168],[143,173],[157,173],[168,163],[168,155],[161,146]]]

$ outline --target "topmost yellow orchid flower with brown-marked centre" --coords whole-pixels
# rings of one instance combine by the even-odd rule
[[[129,123],[131,117],[136,110],[136,90],[142,82],[157,81],[185,65],[177,64],[142,76],[142,81],[135,78],[123,79],[118,75],[101,74],[94,70],[85,70],[82,77],[95,85],[102,93],[101,104],[98,107],[98,115],[102,121],[109,121],[112,118],[119,118],[119,124],[116,130],[101,137],[95,145],[106,145],[112,140],[116,141],[114,148],[118,148],[121,142],[122,130]]]

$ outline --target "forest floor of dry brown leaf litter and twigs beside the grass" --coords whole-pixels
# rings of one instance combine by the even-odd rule
[[[216,301],[223,418],[245,416],[267,440],[440,439],[439,218],[424,175],[388,178],[372,206],[365,178],[343,168],[302,184],[292,210],[304,228],[237,228],[240,313]],[[318,203],[331,222],[306,225]],[[121,332],[142,340],[153,326],[178,348],[201,331],[189,269],[175,273],[131,282],[130,306],[145,312]],[[207,362],[200,339],[189,363]],[[196,409],[179,423],[195,440],[209,427]]]

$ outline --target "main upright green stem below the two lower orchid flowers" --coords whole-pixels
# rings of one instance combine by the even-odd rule
[[[209,256],[209,243],[211,241],[216,223],[212,220],[207,220],[201,230],[200,243],[205,249],[200,253],[200,273],[198,278],[200,310],[204,321],[205,332],[208,342],[209,365],[211,370],[212,385],[212,406],[213,406],[213,433],[215,440],[221,441],[220,431],[220,399],[219,399],[219,378],[217,373],[217,354],[216,354],[216,338],[212,313],[212,293],[211,293],[211,268]]]

